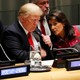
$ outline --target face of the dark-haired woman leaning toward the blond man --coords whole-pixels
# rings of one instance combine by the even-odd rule
[[[52,32],[57,36],[64,35],[64,24],[56,21],[55,19],[49,20]]]

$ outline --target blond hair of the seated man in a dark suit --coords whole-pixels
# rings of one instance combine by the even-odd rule
[[[21,6],[21,8],[19,9],[19,12],[18,12],[18,16],[20,15],[42,15],[43,12],[42,10],[36,5],[36,4],[33,4],[33,3],[27,3],[27,4],[24,4],[23,6]]]

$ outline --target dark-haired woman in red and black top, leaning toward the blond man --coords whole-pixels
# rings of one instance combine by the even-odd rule
[[[54,48],[74,47],[80,51],[80,32],[76,26],[70,25],[63,12],[55,10],[51,13],[49,15],[49,24],[52,31],[51,41]]]

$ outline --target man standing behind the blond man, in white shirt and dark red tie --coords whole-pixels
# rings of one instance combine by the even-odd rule
[[[41,10],[43,11],[43,15],[41,16],[37,26],[38,26],[38,29],[43,34],[43,35],[41,35],[43,38],[41,42],[44,41],[42,46],[47,52],[47,56],[44,58],[44,60],[53,59],[51,51],[50,51],[50,46],[48,46],[48,44],[50,45],[48,40],[49,40],[49,36],[51,35],[51,30],[50,30],[50,27],[48,24],[48,14],[50,11],[50,5],[49,5],[50,0],[29,0],[29,1],[31,3],[35,3],[36,5],[38,5],[41,8]],[[44,27],[44,32],[43,32],[42,27]]]

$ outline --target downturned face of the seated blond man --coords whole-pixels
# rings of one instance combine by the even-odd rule
[[[39,20],[39,15],[28,15],[23,17],[22,24],[27,31],[33,32],[36,29]]]

